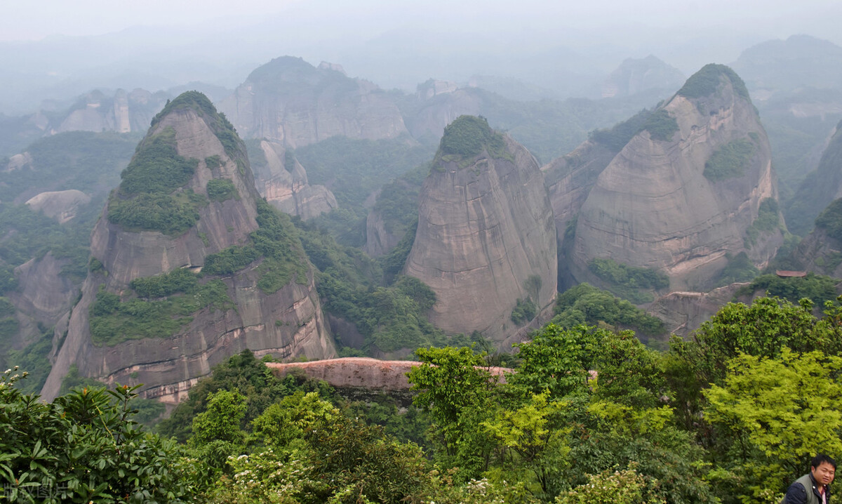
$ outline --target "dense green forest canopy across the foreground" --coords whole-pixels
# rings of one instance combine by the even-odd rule
[[[76,373],[87,388],[45,404],[15,369],[0,483],[24,501],[31,481],[78,502],[778,502],[814,453],[842,452],[840,320],[838,303],[821,318],[808,300],[729,303],[666,351],[548,324],[515,345],[505,383],[472,348],[420,348],[403,412],[243,351],[159,424],[173,441],[132,421],[134,389]]]

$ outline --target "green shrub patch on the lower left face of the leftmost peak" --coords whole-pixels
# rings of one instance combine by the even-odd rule
[[[189,324],[202,308],[232,308],[227,287],[220,280],[200,284],[194,273],[170,273],[132,281],[135,292],[121,296],[100,290],[90,308],[91,340],[115,346],[126,340],[168,338]],[[134,297],[136,294],[138,297]]]

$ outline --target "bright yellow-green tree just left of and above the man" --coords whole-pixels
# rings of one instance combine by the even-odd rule
[[[743,484],[743,502],[786,490],[815,453],[842,453],[842,357],[820,351],[780,357],[741,353],[725,382],[705,391],[708,421]]]

